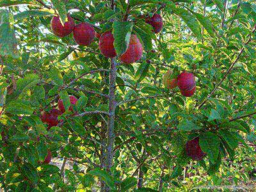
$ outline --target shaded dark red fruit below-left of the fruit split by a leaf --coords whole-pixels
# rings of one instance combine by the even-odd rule
[[[49,112],[44,111],[41,120],[44,123],[48,124],[48,130],[53,127],[58,125],[58,116],[61,115],[62,112],[59,109],[52,109]]]

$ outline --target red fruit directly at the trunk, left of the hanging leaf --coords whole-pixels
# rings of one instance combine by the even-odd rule
[[[116,57],[116,50],[114,48],[114,37],[111,31],[105,32],[100,36],[99,48],[100,52],[108,58]]]

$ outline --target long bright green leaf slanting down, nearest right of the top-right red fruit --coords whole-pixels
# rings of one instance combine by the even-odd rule
[[[185,9],[177,8],[173,10],[174,13],[176,13],[178,16],[180,16],[185,23],[188,25],[188,27],[191,29],[191,31],[196,35],[198,39],[201,39],[201,27],[196,20],[196,17],[189,13]]]

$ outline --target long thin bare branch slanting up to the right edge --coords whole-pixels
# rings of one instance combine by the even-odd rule
[[[254,33],[256,30],[256,25],[254,26],[254,29],[252,30],[252,33]],[[252,40],[252,33],[250,33],[249,35],[249,39],[247,40],[247,42],[245,44],[248,44],[251,40]],[[212,96],[212,94],[218,89],[218,87],[222,84],[222,82],[226,79],[226,77],[228,76],[228,74],[230,73],[230,71],[232,70],[232,68],[234,67],[234,65],[236,64],[236,62],[238,61],[238,59],[241,57],[242,53],[244,52],[244,46],[243,48],[239,51],[236,60],[231,64],[231,66],[229,67],[229,69],[227,70],[227,72],[225,73],[225,75],[223,76],[223,78],[221,79],[221,81],[215,86],[215,88],[212,90],[212,92],[207,96],[207,98],[204,100],[204,102],[201,103],[201,105],[199,105],[198,109],[200,109],[207,101],[208,98],[210,98]]]

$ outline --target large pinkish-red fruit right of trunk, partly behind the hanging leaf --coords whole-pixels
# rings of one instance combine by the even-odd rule
[[[131,35],[130,43],[127,51],[119,57],[119,59],[125,64],[133,63],[140,60],[142,56],[142,45],[136,35]]]

